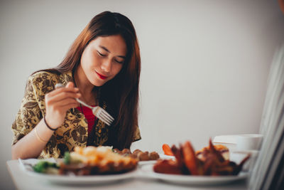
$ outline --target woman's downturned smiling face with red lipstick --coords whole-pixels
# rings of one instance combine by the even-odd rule
[[[80,66],[92,85],[102,86],[119,73],[126,53],[126,43],[120,35],[100,36],[84,49]]]

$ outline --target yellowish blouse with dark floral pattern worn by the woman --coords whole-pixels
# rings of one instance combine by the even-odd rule
[[[16,144],[19,139],[31,132],[45,115],[45,94],[54,90],[55,84],[62,83],[67,85],[69,81],[73,81],[72,72],[58,75],[40,71],[28,78],[21,108],[18,110],[16,120],[12,125],[13,144]],[[107,109],[106,102],[103,102],[101,106]],[[111,145],[107,142],[109,127],[111,126],[107,126],[101,120],[97,120],[92,130],[94,134],[92,135],[92,142],[89,142],[90,135],[88,135],[87,119],[82,112],[72,108],[67,111],[65,122],[50,137],[38,158],[60,158],[64,156],[65,151],[72,152],[74,147],[86,147],[87,144],[94,146]],[[138,139],[141,139],[141,135],[138,127],[136,127],[133,141]]]

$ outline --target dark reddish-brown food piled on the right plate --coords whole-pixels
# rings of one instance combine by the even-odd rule
[[[209,140],[209,147],[202,152],[200,159],[192,144],[187,141],[180,144],[180,147],[173,145],[171,151],[175,160],[158,160],[153,169],[157,173],[163,174],[185,174],[185,175],[206,175],[222,176],[237,175],[250,155],[244,158],[240,164],[225,159],[222,152]]]

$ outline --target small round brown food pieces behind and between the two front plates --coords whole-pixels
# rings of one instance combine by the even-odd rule
[[[138,159],[138,161],[149,161],[160,158],[157,152],[148,152],[148,151],[143,152],[140,149],[136,149],[132,153],[130,149],[123,149],[121,151],[119,149],[114,149],[114,152],[128,157],[132,157],[134,159]]]

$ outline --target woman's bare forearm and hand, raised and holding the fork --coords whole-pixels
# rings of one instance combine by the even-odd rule
[[[58,88],[45,95],[45,123],[40,120],[33,130],[12,145],[12,159],[27,159],[38,157],[46,143],[65,120],[66,112],[79,103],[75,100],[80,97],[79,90],[73,83],[68,83],[66,88]],[[48,126],[47,126],[48,125]]]

